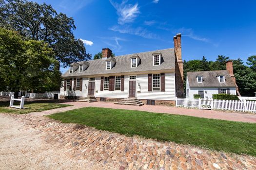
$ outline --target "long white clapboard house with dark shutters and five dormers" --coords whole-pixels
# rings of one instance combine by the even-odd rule
[[[78,101],[118,101],[142,105],[175,103],[183,96],[181,34],[174,48],[112,57],[102,49],[102,59],[72,63],[63,75],[60,97]]]

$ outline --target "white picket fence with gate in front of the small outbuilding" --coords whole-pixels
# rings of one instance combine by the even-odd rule
[[[256,101],[176,98],[177,107],[256,113]]]

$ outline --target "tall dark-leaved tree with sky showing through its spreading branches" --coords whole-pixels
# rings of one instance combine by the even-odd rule
[[[43,40],[55,52],[59,64],[90,60],[83,42],[75,39],[74,19],[57,13],[51,5],[27,0],[0,0],[0,26],[20,32],[27,39]]]

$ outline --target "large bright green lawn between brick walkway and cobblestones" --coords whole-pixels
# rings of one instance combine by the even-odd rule
[[[256,156],[256,123],[97,107],[75,109],[48,117],[127,136],[138,135]]]

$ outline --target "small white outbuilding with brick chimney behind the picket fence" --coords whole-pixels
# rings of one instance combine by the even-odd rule
[[[233,73],[233,61],[226,62],[226,70],[187,72],[186,97],[213,98],[213,94],[232,94],[240,96]]]

